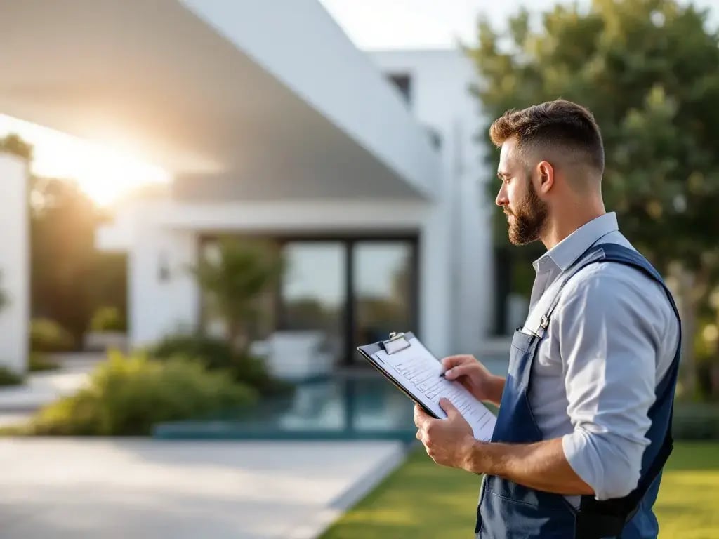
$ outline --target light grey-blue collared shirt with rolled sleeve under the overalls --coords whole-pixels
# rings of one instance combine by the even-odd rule
[[[527,326],[546,310],[547,288],[595,243],[633,248],[614,213],[567,236],[533,264]],[[647,413],[674,359],[678,326],[662,287],[626,264],[595,262],[562,291],[533,361],[528,397],[544,438],[562,437],[569,465],[597,499],[623,497],[638,483]],[[578,507],[579,497],[568,499]]]

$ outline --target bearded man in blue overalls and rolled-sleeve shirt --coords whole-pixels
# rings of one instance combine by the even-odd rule
[[[508,111],[490,136],[510,241],[547,252],[508,377],[472,356],[442,360],[447,379],[500,405],[492,441],[472,438],[447,400],[444,420],[415,408],[417,438],[436,463],[485,474],[478,538],[656,538],[681,339],[674,300],[605,213],[590,111],[562,100]]]

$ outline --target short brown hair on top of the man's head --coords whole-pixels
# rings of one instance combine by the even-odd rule
[[[510,109],[490,127],[490,137],[500,147],[516,137],[518,148],[560,146],[585,154],[587,164],[604,171],[604,144],[597,121],[586,107],[557,99],[517,111]]]

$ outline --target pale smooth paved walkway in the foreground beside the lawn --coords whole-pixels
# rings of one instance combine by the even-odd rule
[[[0,439],[0,538],[314,538],[402,459],[395,442]]]

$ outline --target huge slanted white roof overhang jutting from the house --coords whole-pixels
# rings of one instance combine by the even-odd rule
[[[439,157],[315,0],[0,0],[0,113],[191,199],[433,198]]]

